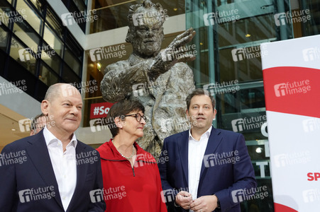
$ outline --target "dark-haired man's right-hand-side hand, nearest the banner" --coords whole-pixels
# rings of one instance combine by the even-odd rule
[[[201,196],[195,199],[190,205],[190,209],[196,212],[211,212],[218,207],[218,198],[215,195]]]

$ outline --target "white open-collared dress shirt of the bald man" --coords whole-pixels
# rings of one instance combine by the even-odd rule
[[[50,160],[53,164],[62,205],[67,211],[77,184],[77,162],[75,160],[77,139],[73,134],[65,152],[63,152],[62,141],[58,140],[46,126],[43,130],[43,136],[45,136],[45,143],[47,143]]]

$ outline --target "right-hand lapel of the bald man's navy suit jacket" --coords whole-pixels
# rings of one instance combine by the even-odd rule
[[[80,141],[77,142],[76,147],[76,160],[77,160],[77,184],[75,187],[75,192],[73,193],[72,199],[70,201],[70,204],[67,208],[67,211],[72,211],[72,206],[77,203],[77,200],[79,199],[78,196],[82,194],[82,189],[84,187],[84,182],[87,176],[87,167],[88,163],[78,163],[79,159],[85,159],[85,158],[78,158],[77,155],[82,155],[81,153],[85,152],[86,146],[83,145]],[[84,194],[82,194],[84,195]]]

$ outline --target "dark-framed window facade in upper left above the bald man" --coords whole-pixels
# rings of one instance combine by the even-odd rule
[[[38,101],[53,83],[81,82],[84,50],[46,1],[1,1],[0,13],[1,76],[26,80]]]

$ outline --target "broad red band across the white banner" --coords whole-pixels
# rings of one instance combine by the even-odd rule
[[[266,110],[320,118],[320,71],[306,67],[263,70]]]

